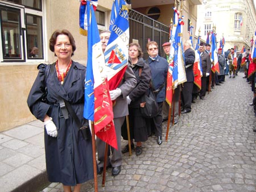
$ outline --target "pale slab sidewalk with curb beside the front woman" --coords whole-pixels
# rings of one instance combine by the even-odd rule
[[[36,120],[0,133],[0,191],[38,191],[49,185],[43,131]]]

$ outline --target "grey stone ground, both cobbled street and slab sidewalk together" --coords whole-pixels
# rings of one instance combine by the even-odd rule
[[[162,145],[149,137],[141,156],[123,155],[121,173],[113,177],[108,169],[105,187],[97,177],[98,191],[256,191],[253,92],[242,76],[226,76],[204,101],[197,98]],[[36,191],[31,186],[39,185],[38,178],[47,185],[42,127],[35,121],[0,133],[0,191]],[[166,128],[167,122],[164,137]],[[63,191],[60,183],[40,187]],[[94,182],[83,183],[81,191],[94,191]]]

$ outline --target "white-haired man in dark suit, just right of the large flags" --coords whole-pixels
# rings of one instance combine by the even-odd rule
[[[183,84],[183,89],[181,91],[183,110],[181,114],[191,112],[191,102],[192,102],[192,91],[194,84],[194,72],[193,65],[196,59],[195,51],[191,49],[191,40],[187,40],[183,44],[184,50],[184,60],[185,60],[185,72],[187,81]]]

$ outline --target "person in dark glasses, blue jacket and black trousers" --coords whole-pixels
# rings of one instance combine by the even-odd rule
[[[152,89],[158,91],[156,101],[158,102],[159,107],[158,114],[151,119],[151,131],[154,130],[155,136],[157,137],[156,143],[160,145],[163,143],[162,107],[163,101],[166,100],[166,80],[169,64],[166,59],[158,55],[158,44],[155,41],[147,43],[147,53],[148,59],[145,62],[149,64],[151,69]]]

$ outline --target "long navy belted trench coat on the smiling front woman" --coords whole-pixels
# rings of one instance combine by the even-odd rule
[[[52,64],[55,66],[55,63]],[[72,61],[63,85],[57,79],[56,69],[49,73],[46,81],[47,103],[42,102],[46,68],[39,69],[38,76],[28,95],[27,104],[32,114],[44,120],[47,114],[57,127],[57,137],[47,135],[44,129],[46,168],[50,182],[75,186],[93,178],[92,139],[84,140],[72,116],[61,117],[59,97],[69,103],[82,123],[84,112],[84,80],[86,67]]]

